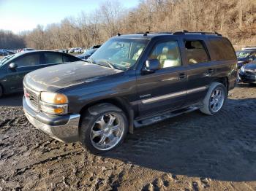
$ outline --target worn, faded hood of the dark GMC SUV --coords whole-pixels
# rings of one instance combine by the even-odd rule
[[[122,71],[79,61],[32,71],[26,75],[24,84],[37,91],[56,92],[65,87],[95,81],[119,72]]]

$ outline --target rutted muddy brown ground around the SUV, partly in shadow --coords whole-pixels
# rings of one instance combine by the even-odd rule
[[[214,117],[140,128],[104,155],[33,128],[21,97],[0,101],[0,190],[256,190],[256,86],[238,85]]]

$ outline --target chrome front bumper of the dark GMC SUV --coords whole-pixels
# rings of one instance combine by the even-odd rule
[[[79,141],[78,127],[80,114],[64,116],[47,115],[42,112],[34,112],[23,98],[23,110],[27,119],[34,127],[47,133],[62,142],[70,143]]]

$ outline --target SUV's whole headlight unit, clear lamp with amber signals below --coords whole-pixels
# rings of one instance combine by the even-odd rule
[[[40,109],[48,114],[67,114],[68,100],[67,96],[61,93],[42,92],[40,100]]]

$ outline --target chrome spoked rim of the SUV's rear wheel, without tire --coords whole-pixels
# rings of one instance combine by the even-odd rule
[[[225,93],[222,87],[217,87],[213,93],[211,93],[210,109],[212,112],[218,112],[222,108],[225,101]]]

